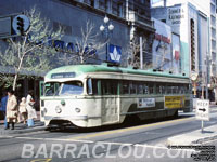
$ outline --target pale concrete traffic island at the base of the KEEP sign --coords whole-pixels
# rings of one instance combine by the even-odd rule
[[[201,132],[201,130],[196,130],[193,132],[170,137],[167,139],[167,145],[168,146],[201,145],[214,139],[217,139],[216,125],[204,127],[203,133]]]

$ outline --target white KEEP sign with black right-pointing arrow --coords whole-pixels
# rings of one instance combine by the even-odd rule
[[[209,121],[209,100],[208,99],[196,100],[196,119]]]

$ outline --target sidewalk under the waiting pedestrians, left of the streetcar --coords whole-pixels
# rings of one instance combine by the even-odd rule
[[[35,125],[28,127],[23,123],[16,123],[14,130],[4,130],[3,120],[0,120],[0,136],[9,135],[9,134],[21,134],[21,133],[29,133],[36,131],[42,131],[46,129],[44,123],[40,121],[40,112],[37,112],[37,119],[35,119]]]

